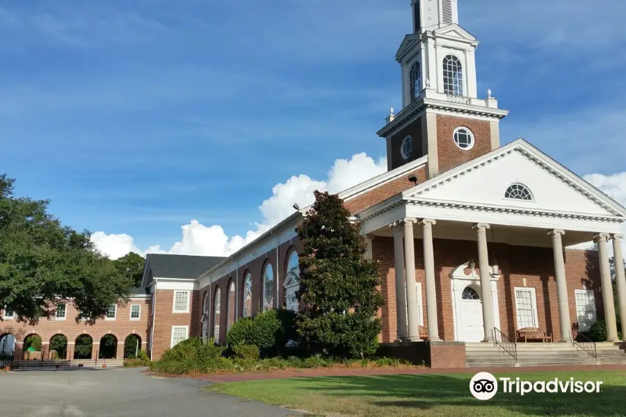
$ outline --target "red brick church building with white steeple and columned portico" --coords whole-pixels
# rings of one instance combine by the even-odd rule
[[[626,361],[626,279],[617,268],[617,320],[609,266],[609,245],[623,264],[626,208],[526,140],[501,145],[508,111],[476,88],[479,41],[458,1],[411,7],[395,56],[402,108],[378,131],[387,172],[339,193],[380,265],[381,352],[433,367]],[[152,359],[190,336],[225,343],[238,318],[298,309],[295,229],[308,209],[198,276],[158,277],[149,255]],[[592,240],[597,250],[571,248]],[[580,334],[598,320],[607,343]]]

